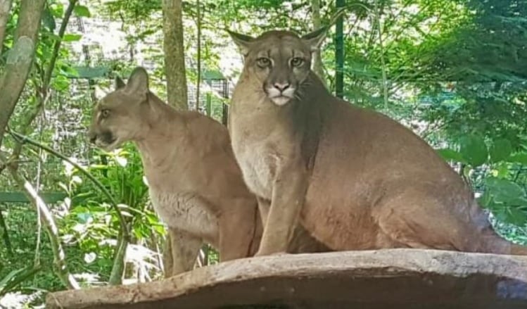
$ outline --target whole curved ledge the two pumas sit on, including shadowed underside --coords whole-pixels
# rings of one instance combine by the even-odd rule
[[[46,308],[527,308],[527,257],[414,249],[268,256],[146,284],[61,291]]]

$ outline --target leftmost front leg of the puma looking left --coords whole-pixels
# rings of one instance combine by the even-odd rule
[[[169,227],[167,241],[165,249],[170,248],[170,252],[163,254],[164,263],[169,264],[165,267],[165,278],[192,270],[203,242],[201,238]]]

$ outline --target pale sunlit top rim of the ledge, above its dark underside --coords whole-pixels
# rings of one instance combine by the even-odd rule
[[[489,275],[527,286],[527,256],[398,248],[244,258],[155,282],[58,291],[46,296],[46,308],[98,308],[160,301],[205,287],[269,277],[309,278],[338,274],[372,278],[415,276],[424,272],[459,278]]]

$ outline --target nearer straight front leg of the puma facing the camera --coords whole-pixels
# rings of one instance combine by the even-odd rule
[[[300,162],[282,167],[274,179],[260,249],[255,256],[286,253],[298,225],[307,191],[307,171]]]

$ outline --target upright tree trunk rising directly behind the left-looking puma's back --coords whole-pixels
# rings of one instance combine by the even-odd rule
[[[167,77],[167,101],[188,109],[183,46],[182,0],[163,0],[163,50]]]

